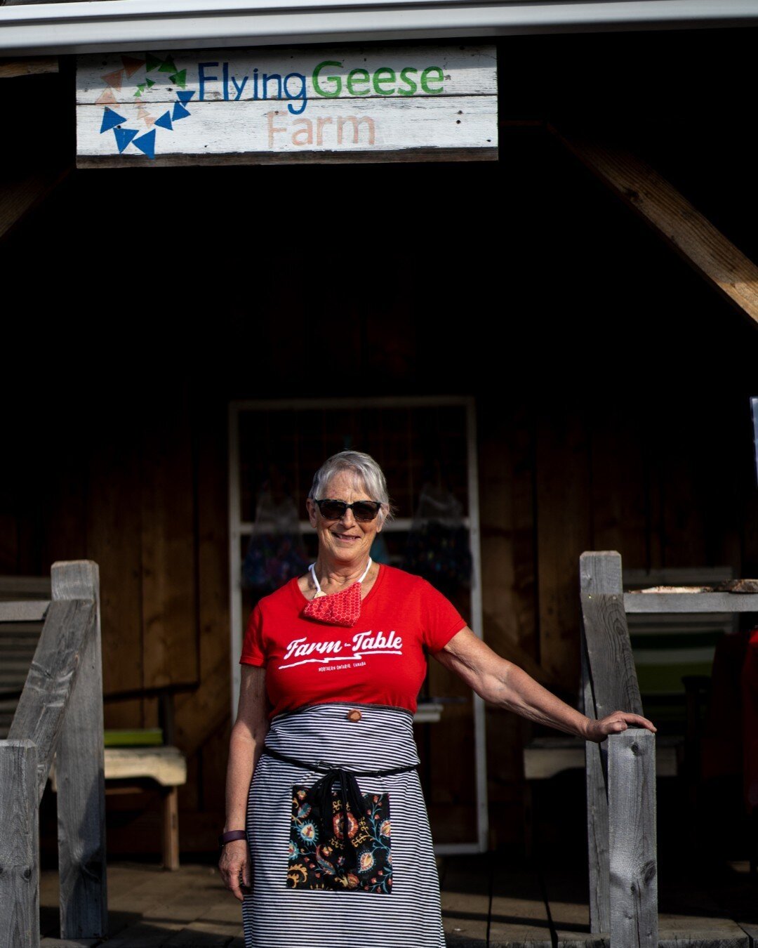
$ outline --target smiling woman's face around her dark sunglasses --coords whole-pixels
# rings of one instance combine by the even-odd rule
[[[363,482],[352,471],[338,471],[327,484],[318,500],[376,501],[370,497]],[[340,520],[325,520],[314,501],[308,501],[308,514],[311,525],[318,534],[318,552],[337,563],[365,562],[369,556],[374,537],[382,529],[379,518],[375,520],[355,520],[352,510],[346,510]]]

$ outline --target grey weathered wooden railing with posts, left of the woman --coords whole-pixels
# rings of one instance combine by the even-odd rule
[[[0,740],[0,944],[37,948],[38,811],[56,758],[63,939],[107,930],[99,571],[55,563],[52,600],[0,603],[0,623],[45,624]]]

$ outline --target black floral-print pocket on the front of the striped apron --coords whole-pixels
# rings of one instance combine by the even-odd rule
[[[356,812],[344,794],[292,788],[288,888],[391,893],[389,794],[361,796]]]

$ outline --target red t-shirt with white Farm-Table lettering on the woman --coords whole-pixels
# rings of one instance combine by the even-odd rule
[[[297,578],[264,596],[244,633],[243,665],[265,666],[271,717],[306,704],[388,704],[416,710],[426,652],[466,625],[421,576],[382,565],[352,629],[304,618]]]

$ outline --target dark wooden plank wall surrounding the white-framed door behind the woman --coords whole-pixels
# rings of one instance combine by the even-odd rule
[[[2,248],[9,273],[46,270],[8,330],[0,571],[96,559],[106,694],[189,685],[185,850],[223,819],[232,398],[473,393],[485,637],[568,700],[584,550],[758,574],[754,325],[547,133],[500,147],[481,167],[76,173]],[[152,698],[106,705],[109,726],[156,718]],[[493,842],[517,844],[524,725],[488,720]],[[454,766],[466,737],[434,739]],[[113,851],[141,826],[154,846],[130,819]]]

